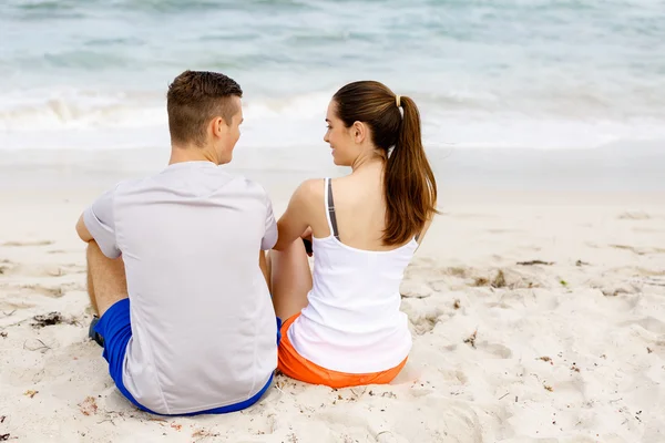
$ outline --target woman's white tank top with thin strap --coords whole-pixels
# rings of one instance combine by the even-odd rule
[[[387,251],[339,241],[330,179],[325,179],[330,235],[313,238],[314,285],[309,305],[288,329],[295,350],[307,360],[346,373],[381,372],[411,350],[399,287],[418,241]]]

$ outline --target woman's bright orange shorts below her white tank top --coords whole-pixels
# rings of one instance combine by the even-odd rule
[[[405,359],[397,367],[387,371],[361,374],[337,372],[321,368],[298,354],[288,339],[288,334],[286,332],[299,315],[300,313],[296,313],[295,316],[289,317],[284,324],[282,324],[280,330],[282,340],[279,341],[279,361],[277,369],[291,379],[300,380],[311,384],[325,384],[330,388],[348,388],[362,384],[386,384],[390,383],[397,377],[399,371],[402,370],[405,364],[407,364],[407,359]]]

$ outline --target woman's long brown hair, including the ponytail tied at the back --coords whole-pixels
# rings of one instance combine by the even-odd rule
[[[401,96],[402,117],[395,93],[375,81],[349,83],[332,100],[346,127],[355,122],[368,125],[374,144],[388,158],[383,244],[407,243],[437,213],[437,182],[422,147],[418,106]]]

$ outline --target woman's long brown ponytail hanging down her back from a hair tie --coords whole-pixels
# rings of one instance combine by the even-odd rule
[[[399,97],[403,117],[386,164],[386,245],[419,236],[437,213],[437,182],[422,147],[420,113],[408,96]]]

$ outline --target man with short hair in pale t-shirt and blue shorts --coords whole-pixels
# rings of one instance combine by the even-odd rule
[[[260,186],[219,167],[241,135],[242,94],[219,73],[178,75],[167,93],[170,165],[119,184],[76,224],[101,317],[91,330],[117,389],[149,412],[247,408],[277,367],[262,272],[277,240],[272,205]]]

